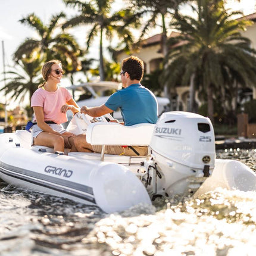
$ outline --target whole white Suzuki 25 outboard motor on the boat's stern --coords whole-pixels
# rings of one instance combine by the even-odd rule
[[[183,111],[162,114],[150,143],[148,177],[143,179],[151,198],[195,193],[213,171],[214,141],[209,118]]]

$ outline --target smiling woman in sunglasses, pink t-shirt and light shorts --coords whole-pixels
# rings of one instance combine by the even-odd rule
[[[56,152],[70,148],[68,138],[73,133],[67,132],[62,123],[67,121],[67,110],[74,114],[80,108],[67,89],[58,86],[63,77],[61,61],[51,60],[42,67],[44,82],[38,86],[31,98],[35,118],[33,126],[33,145],[49,146]]]

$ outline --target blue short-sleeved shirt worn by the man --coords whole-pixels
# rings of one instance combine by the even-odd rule
[[[105,106],[113,111],[120,108],[125,126],[139,123],[157,123],[157,99],[151,90],[139,83],[113,93],[108,98]]]

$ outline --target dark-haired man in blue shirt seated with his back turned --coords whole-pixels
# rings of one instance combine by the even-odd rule
[[[157,99],[150,90],[141,85],[143,68],[143,61],[138,57],[131,56],[124,59],[120,72],[124,89],[113,93],[104,105],[93,108],[84,106],[80,112],[99,117],[120,108],[124,126],[156,123],[158,119]],[[102,148],[102,146],[93,146],[86,142],[86,135],[73,136],[70,138],[70,143],[71,151],[101,152]],[[147,146],[105,146],[105,154],[143,156],[147,153]]]

